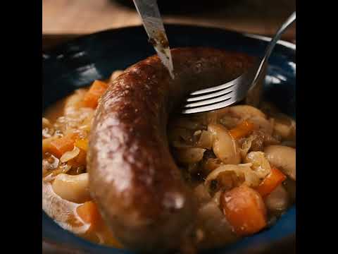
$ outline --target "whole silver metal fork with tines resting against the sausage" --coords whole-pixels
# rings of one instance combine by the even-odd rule
[[[268,63],[268,58],[273,51],[275,44],[280,40],[283,32],[294,23],[294,20],[296,20],[296,12],[292,13],[292,15],[282,24],[280,29],[277,30],[275,36],[268,44],[262,59],[253,64],[248,71],[223,85],[192,92],[184,102],[182,114],[221,109],[230,106],[235,102],[242,101],[242,99],[256,87],[258,80],[261,79],[261,75]]]

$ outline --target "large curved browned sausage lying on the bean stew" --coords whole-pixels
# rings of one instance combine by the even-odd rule
[[[108,87],[89,140],[89,186],[115,236],[136,250],[180,246],[194,222],[192,191],[170,155],[168,116],[192,90],[236,78],[251,57],[209,48],[173,49],[175,80],[158,56]]]

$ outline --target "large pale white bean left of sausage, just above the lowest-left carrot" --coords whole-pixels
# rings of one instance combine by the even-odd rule
[[[70,202],[82,203],[91,200],[88,189],[88,173],[71,176],[58,174],[52,183],[54,193]]]

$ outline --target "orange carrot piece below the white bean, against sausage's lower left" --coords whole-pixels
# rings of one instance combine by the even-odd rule
[[[90,224],[90,231],[95,230],[98,226],[100,226],[102,221],[101,214],[97,205],[93,201],[84,202],[82,205],[77,207],[76,212],[84,222]]]

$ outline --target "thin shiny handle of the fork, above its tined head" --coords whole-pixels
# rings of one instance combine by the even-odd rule
[[[261,70],[262,70],[263,66],[265,66],[265,63],[268,61],[270,54],[271,54],[271,52],[273,52],[273,49],[274,49],[275,45],[277,44],[278,40],[280,40],[280,37],[282,36],[284,31],[287,30],[287,28],[289,28],[289,26],[292,25],[292,23],[294,23],[294,20],[296,20],[296,11],[294,11],[294,13],[292,13],[292,15],[289,16],[289,18],[287,18],[287,20],[285,20],[285,22],[282,24],[280,29],[277,30],[273,39],[270,40],[268,47],[265,50],[265,54],[263,56],[263,59],[261,60],[261,63],[259,64],[256,76],[253,79],[254,80],[253,84],[255,84],[256,80],[258,80],[258,78],[261,74]]]

